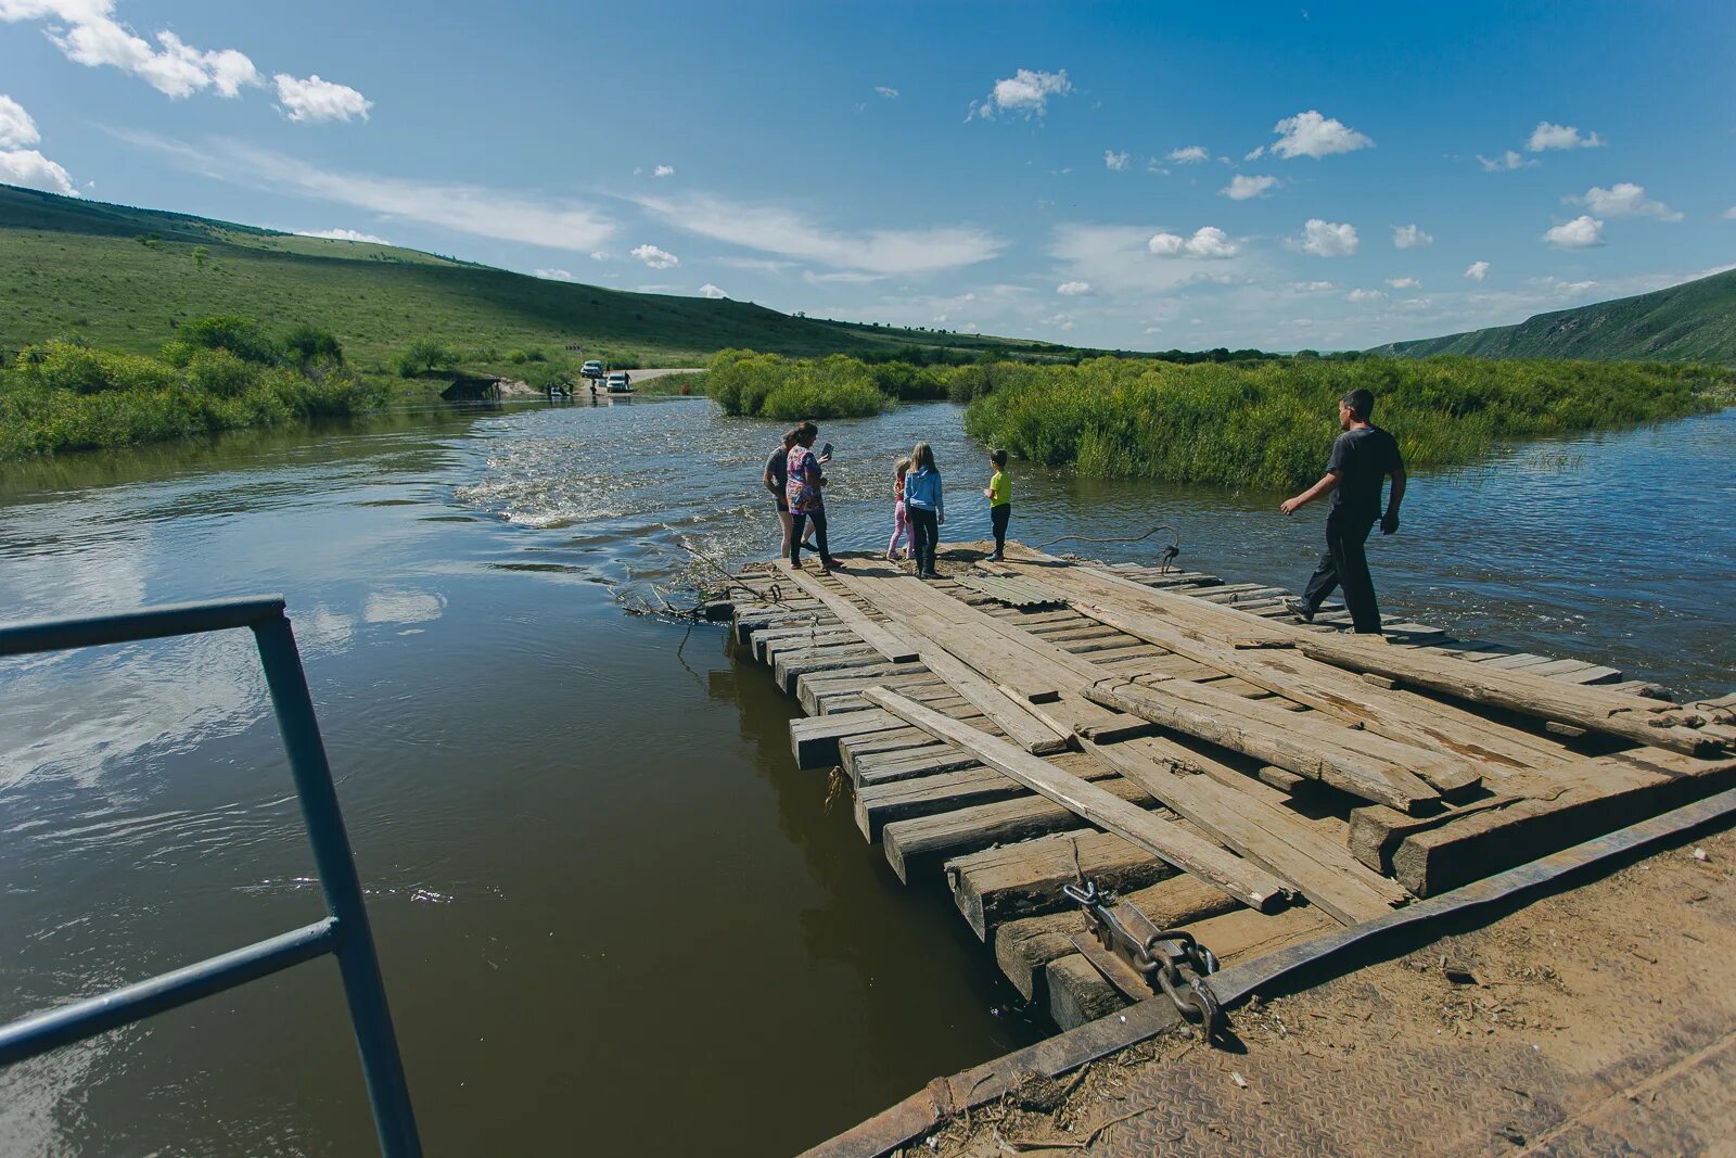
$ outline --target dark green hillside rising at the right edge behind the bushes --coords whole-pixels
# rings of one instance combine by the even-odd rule
[[[1736,269],[1639,297],[1538,314],[1517,326],[1392,342],[1368,352],[1399,358],[1470,354],[1736,365]]]

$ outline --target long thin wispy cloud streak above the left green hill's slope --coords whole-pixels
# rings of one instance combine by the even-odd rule
[[[115,135],[217,181],[351,205],[479,238],[587,253],[615,233],[615,222],[587,205],[536,201],[507,189],[328,170],[240,141],[217,139],[194,148],[139,132]]]

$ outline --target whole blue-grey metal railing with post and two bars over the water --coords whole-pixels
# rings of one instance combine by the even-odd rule
[[[61,1045],[80,1042],[106,1030],[142,1021],[238,984],[267,977],[278,970],[332,953],[337,957],[349,1003],[356,1050],[368,1082],[373,1125],[380,1135],[380,1153],[387,1158],[420,1158],[410,1087],[398,1056],[392,1012],[385,1003],[380,960],[373,951],[368,913],[361,899],[356,861],[344,832],[332,766],[319,740],[307,675],[295,649],[290,620],[281,595],[224,599],[104,615],[82,620],[19,623],[0,627],[0,658],[40,651],[68,651],[102,644],[137,642],[168,635],[196,635],[247,627],[259,646],[266,668],[266,686],[283,733],[295,795],[300,799],[307,840],[312,845],[319,889],[325,892],[326,918],[281,936],[194,962],[149,981],[49,1009],[0,1026],[0,1066],[10,1066]]]

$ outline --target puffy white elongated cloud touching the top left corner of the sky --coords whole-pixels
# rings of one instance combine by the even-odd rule
[[[87,68],[118,68],[170,97],[212,89],[240,95],[260,83],[259,69],[234,49],[203,52],[172,31],[156,33],[153,49],[115,19],[115,0],[0,0],[0,21],[49,21],[49,40],[66,59]]]

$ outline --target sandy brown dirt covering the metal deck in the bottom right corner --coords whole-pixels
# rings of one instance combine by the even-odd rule
[[[911,1155],[1736,1153],[1736,833],[1038,1082]]]

